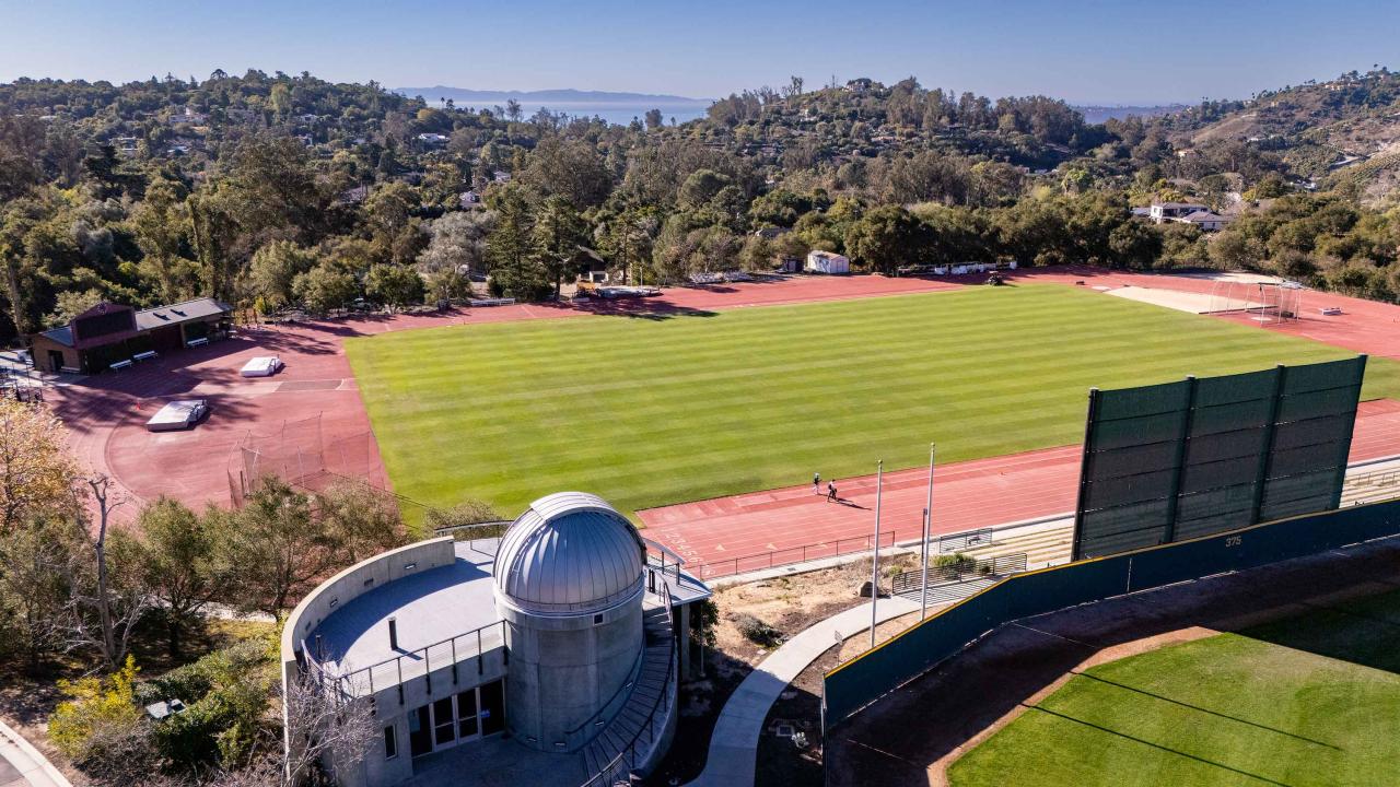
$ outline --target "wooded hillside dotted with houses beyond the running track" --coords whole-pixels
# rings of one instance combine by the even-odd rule
[[[1396,300],[1397,81],[1089,123],[1043,95],[794,77],[687,123],[610,125],[308,73],[24,78],[0,85],[0,333],[101,301],[550,298],[578,277],[676,283],[812,251],[883,273],[1243,267]]]

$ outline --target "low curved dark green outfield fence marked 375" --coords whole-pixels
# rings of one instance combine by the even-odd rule
[[[1012,620],[1400,535],[1400,500],[1015,574],[826,674],[822,731]]]

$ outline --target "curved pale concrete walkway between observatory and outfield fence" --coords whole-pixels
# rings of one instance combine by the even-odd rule
[[[879,599],[879,622],[918,612],[907,598]],[[850,637],[871,627],[871,608],[862,604],[816,623],[769,654],[739,688],[715,720],[704,772],[690,787],[752,787],[763,720],[778,695],[798,674],[836,644],[837,633]]]

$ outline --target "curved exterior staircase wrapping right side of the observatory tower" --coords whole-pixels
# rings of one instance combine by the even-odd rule
[[[643,760],[665,734],[666,717],[675,711],[676,651],[671,611],[657,604],[643,609],[641,620],[645,651],[631,696],[582,749],[584,765],[588,773],[595,774],[589,786],[610,787],[617,780],[626,780],[634,767],[645,765]],[[666,695],[671,695],[669,700]],[[630,753],[619,759],[629,749]]]

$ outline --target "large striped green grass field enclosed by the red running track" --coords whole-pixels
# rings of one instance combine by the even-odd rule
[[[1352,353],[1058,284],[346,342],[395,489],[623,511],[1078,443],[1089,386]],[[1400,392],[1372,361],[1366,396]]]

